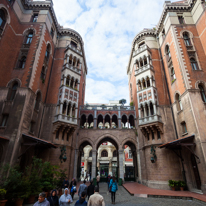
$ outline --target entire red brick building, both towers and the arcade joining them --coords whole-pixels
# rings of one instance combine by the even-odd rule
[[[84,105],[81,36],[58,24],[52,0],[0,0],[0,162],[24,168],[35,155],[71,180],[89,146],[94,178],[109,142],[123,180],[164,189],[185,180],[206,193],[205,17],[205,1],[166,1],[157,27],[132,43],[134,106]]]

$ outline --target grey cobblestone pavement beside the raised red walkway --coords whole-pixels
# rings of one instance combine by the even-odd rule
[[[206,203],[196,200],[181,200],[181,199],[169,199],[169,198],[142,198],[131,196],[124,187],[118,187],[116,192],[116,204],[124,206],[203,206]],[[108,192],[107,183],[100,183],[100,194],[104,197],[106,206],[112,206],[111,194]],[[75,194],[74,202],[77,201],[78,196]]]

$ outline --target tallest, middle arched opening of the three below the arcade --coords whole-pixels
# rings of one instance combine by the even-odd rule
[[[107,176],[119,178],[118,144],[111,137],[101,139],[97,146],[96,173],[100,175],[100,181],[106,182]]]

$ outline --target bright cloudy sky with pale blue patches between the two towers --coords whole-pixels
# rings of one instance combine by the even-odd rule
[[[154,27],[164,0],[53,0],[58,22],[83,38],[88,67],[86,100],[127,99],[126,67],[134,37]]]

